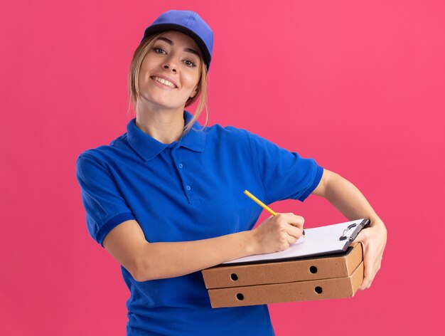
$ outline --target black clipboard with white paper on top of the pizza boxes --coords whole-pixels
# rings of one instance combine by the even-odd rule
[[[285,251],[246,256],[226,261],[220,266],[242,265],[245,263],[271,263],[301,258],[337,256],[344,254],[361,230],[370,225],[369,219],[356,219],[344,223],[304,229],[306,238],[300,238]]]

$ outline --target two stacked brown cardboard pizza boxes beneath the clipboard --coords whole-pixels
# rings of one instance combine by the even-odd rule
[[[225,263],[202,271],[213,308],[348,298],[363,281],[363,248],[341,255],[263,263]]]

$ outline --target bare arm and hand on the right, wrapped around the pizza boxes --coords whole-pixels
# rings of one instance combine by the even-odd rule
[[[382,255],[387,241],[385,224],[372,209],[365,196],[347,179],[327,169],[323,171],[321,181],[312,194],[322,196],[338,209],[346,218],[368,218],[370,228],[360,231],[355,241],[363,244],[365,278],[360,290],[369,288],[375,274],[380,269]]]

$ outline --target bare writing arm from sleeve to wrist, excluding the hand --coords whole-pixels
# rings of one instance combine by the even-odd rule
[[[252,254],[248,231],[200,241],[149,243],[134,220],[112,229],[103,245],[136,281],[173,278]]]

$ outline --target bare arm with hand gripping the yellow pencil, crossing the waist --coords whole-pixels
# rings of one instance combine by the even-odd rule
[[[109,231],[103,246],[136,281],[173,278],[252,254],[283,251],[301,236],[303,218],[271,216],[252,231],[198,241],[149,243],[137,221]]]

